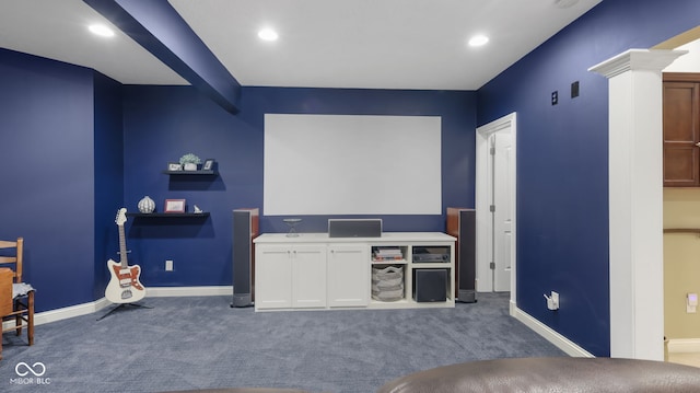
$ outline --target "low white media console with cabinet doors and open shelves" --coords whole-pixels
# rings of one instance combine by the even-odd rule
[[[454,308],[455,241],[440,232],[384,232],[381,238],[261,234],[253,241],[255,310]],[[402,297],[373,299],[372,268],[387,266],[402,270]],[[444,279],[429,288],[428,282],[441,276]],[[425,300],[422,292],[435,288],[444,290],[442,299]]]

